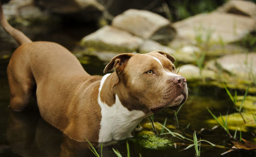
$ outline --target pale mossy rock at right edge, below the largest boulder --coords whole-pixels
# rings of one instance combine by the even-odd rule
[[[206,69],[216,73],[216,86],[246,90],[256,93],[256,53],[225,55],[221,58],[210,60],[205,64]]]

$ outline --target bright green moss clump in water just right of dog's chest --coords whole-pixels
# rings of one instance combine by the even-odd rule
[[[151,131],[139,132],[130,140],[146,149],[163,150],[172,147],[172,142],[168,139],[155,136]]]

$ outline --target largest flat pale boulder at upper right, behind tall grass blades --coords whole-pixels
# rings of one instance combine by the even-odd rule
[[[229,43],[241,40],[255,30],[256,22],[246,16],[212,12],[198,14],[173,23],[179,36],[196,42]]]

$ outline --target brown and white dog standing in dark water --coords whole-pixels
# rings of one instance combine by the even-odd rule
[[[132,137],[143,118],[187,98],[186,79],[176,74],[174,57],[163,51],[118,55],[104,69],[107,73],[115,68],[113,73],[91,76],[65,47],[32,42],[12,28],[2,5],[0,20],[20,44],[7,69],[10,108],[23,111],[36,87],[41,117],[71,139],[106,142]]]

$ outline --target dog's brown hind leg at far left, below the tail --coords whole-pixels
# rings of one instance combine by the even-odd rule
[[[35,81],[28,66],[21,62],[11,62],[7,68],[10,87],[10,108],[14,111],[23,111],[28,107]]]

